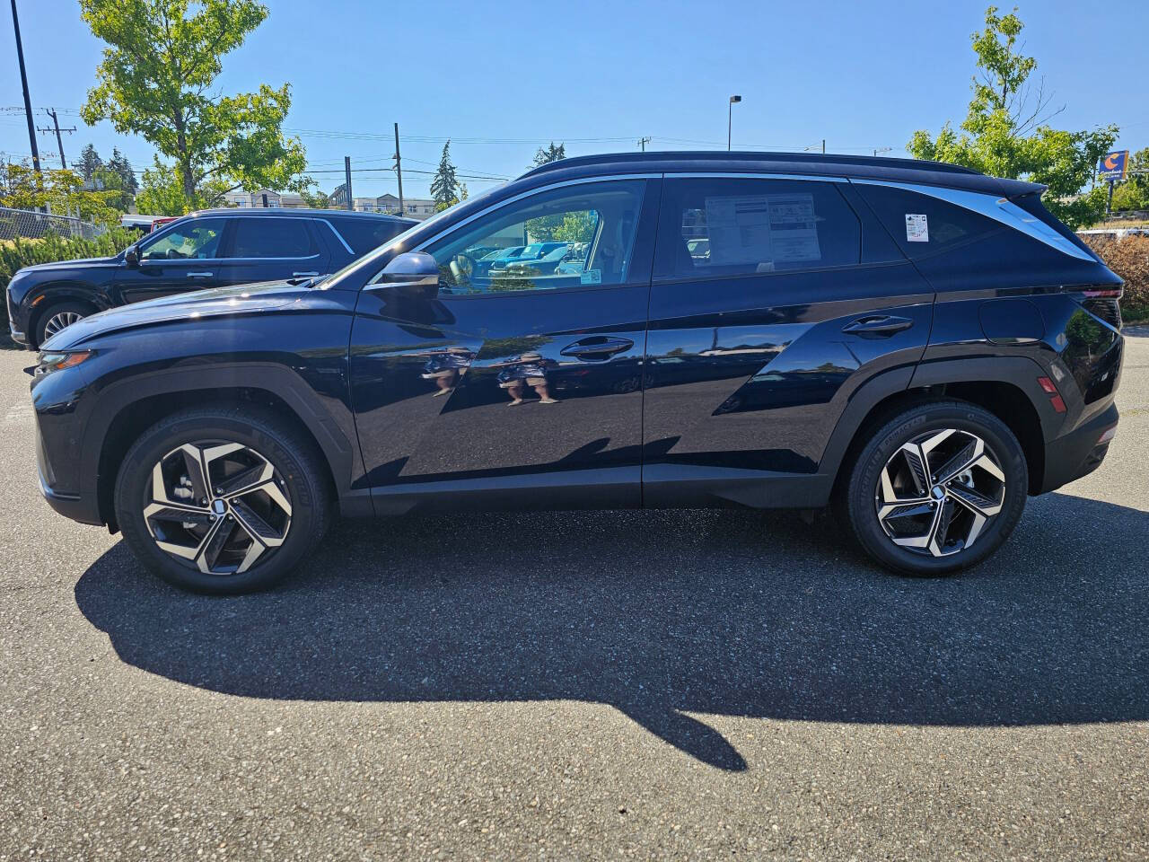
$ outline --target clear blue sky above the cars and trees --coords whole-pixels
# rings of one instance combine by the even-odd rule
[[[404,169],[432,170],[442,140],[462,174],[511,177],[547,140],[570,155],[734,145],[827,152],[903,147],[916,129],[961,121],[970,98],[969,36],[985,0],[861,3],[671,2],[614,0],[547,6],[498,3],[265,0],[271,14],[224,59],[226,92],[265,82],[292,84],[285,124],[307,146],[315,171],[390,166],[392,123]],[[101,44],[75,0],[17,0],[37,125],[43,108],[76,109],[92,85]],[[1008,3],[1003,3],[1009,8]],[[1149,3],[1104,7],[1023,2],[1026,52],[1038,59],[1056,123],[1121,126],[1119,147],[1149,146]],[[1109,21],[1105,21],[1110,17]],[[22,105],[8,3],[0,9],[0,108]],[[142,139],[75,113],[62,124],[69,159],[92,141],[118,146],[137,168],[151,161]],[[304,131],[306,130],[306,131]],[[39,136],[55,152],[54,137]],[[0,151],[29,152],[20,114],[0,111]],[[48,160],[45,160],[48,162]],[[53,160],[54,161],[54,160]],[[48,162],[51,163],[51,162]],[[325,190],[337,174],[316,174]],[[423,195],[426,175],[404,170],[403,191]],[[472,191],[491,182],[466,180]],[[393,174],[356,177],[356,195],[395,191]]]

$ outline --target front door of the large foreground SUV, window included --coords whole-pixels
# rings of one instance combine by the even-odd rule
[[[437,298],[363,290],[352,385],[377,511],[472,495],[516,506],[539,488],[547,505],[639,503],[658,185],[529,193],[424,244],[441,271]],[[532,243],[566,253],[480,263]]]

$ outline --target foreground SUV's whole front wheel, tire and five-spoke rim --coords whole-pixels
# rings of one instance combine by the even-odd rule
[[[313,449],[254,408],[169,416],[121,467],[115,507],[124,539],[148,569],[185,590],[270,586],[326,526],[330,501]]]

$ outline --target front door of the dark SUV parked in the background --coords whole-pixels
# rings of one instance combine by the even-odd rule
[[[218,286],[226,225],[226,218],[186,218],[144,239],[139,265],[116,272],[111,286],[115,305]]]

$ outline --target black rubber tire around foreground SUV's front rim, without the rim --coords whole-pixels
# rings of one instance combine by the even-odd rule
[[[283,477],[292,506],[291,526],[283,545],[265,562],[240,575],[208,575],[191,569],[161,551],[144,521],[142,500],[152,469],[185,442],[222,439],[242,444],[267,457]],[[322,490],[300,457],[299,444],[250,417],[188,414],[161,422],[145,432],[124,459],[116,482],[116,517],[124,539],[140,561],[176,586],[195,592],[240,593],[263,588],[285,577],[307,553],[322,521],[317,502]]]

